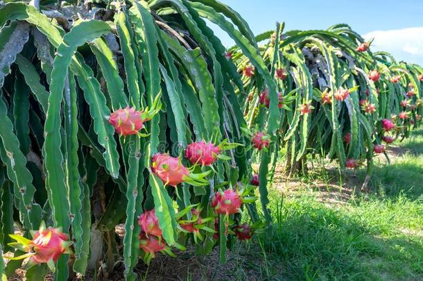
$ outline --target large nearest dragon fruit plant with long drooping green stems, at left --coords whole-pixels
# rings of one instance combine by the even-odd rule
[[[192,216],[178,212],[200,204],[204,221],[214,214],[212,188],[250,180],[243,80],[266,76],[261,86],[272,100],[274,74],[248,25],[228,9],[214,0],[0,5],[0,172],[13,187],[2,198],[16,209],[2,212],[0,224],[21,225],[28,237],[44,219],[69,233],[61,237],[74,241],[74,255],[53,257],[56,280],[84,278],[100,261],[107,273],[121,259],[124,278],[137,280],[139,259],[167,253],[186,236],[178,221]],[[224,17],[217,24],[226,28],[241,24],[243,34],[239,26],[227,33],[245,48],[227,50],[205,11]],[[239,56],[248,57],[245,76],[234,65]],[[211,241],[204,229],[203,241]],[[1,248],[14,252],[5,241]],[[219,245],[222,262],[227,245]],[[198,248],[212,250],[200,239]]]

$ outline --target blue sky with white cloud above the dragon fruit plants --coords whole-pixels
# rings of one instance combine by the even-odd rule
[[[423,65],[423,0],[221,0],[250,24],[254,34],[285,22],[286,30],[325,29],[345,23],[374,37],[373,49]],[[233,44],[216,30],[225,45]]]

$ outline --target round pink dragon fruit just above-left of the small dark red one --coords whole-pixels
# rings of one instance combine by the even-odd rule
[[[212,198],[212,207],[217,214],[236,214],[241,205],[241,196],[233,189],[217,191]]]

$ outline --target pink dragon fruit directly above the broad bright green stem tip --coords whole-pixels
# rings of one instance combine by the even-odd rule
[[[189,175],[187,168],[182,165],[179,157],[157,153],[151,159],[151,171],[156,174],[165,184],[176,187],[186,180]]]

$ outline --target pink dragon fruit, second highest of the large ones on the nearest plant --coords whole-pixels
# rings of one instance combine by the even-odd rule
[[[185,158],[193,164],[202,164],[209,166],[216,161],[218,155],[221,153],[221,148],[215,146],[211,142],[193,142],[187,146],[185,151]]]

